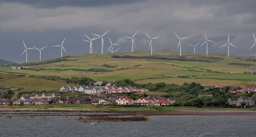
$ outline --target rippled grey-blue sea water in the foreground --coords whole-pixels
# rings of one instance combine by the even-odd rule
[[[148,122],[82,123],[76,116],[0,117],[2,137],[254,137],[255,117],[150,116]]]

